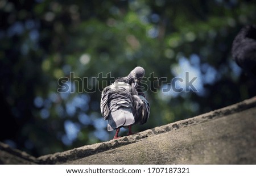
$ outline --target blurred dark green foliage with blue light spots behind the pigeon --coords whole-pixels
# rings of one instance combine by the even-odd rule
[[[256,95],[230,55],[241,27],[255,24],[253,1],[1,0],[0,14],[0,140],[34,156],[112,139],[101,90],[108,73],[123,77],[137,65],[151,103],[137,132]],[[199,92],[163,93],[184,72],[198,77]],[[63,77],[73,92],[57,92]]]

